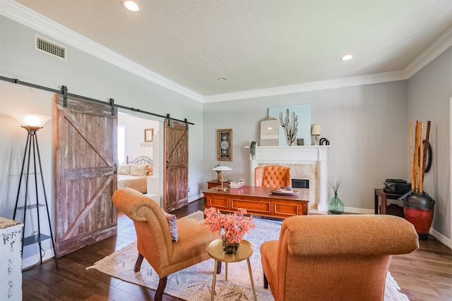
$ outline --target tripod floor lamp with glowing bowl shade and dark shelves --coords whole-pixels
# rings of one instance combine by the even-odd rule
[[[22,125],[22,128],[25,128],[28,132],[27,142],[25,143],[25,152],[23,154],[22,168],[20,171],[19,178],[19,187],[17,191],[16,197],[16,207],[14,208],[13,219],[16,219],[16,214],[18,210],[22,211],[23,214],[23,228],[22,232],[22,248],[26,245],[34,245],[38,244],[40,248],[40,263],[42,264],[42,247],[41,242],[43,240],[52,240],[52,247],[54,250],[54,258],[55,264],[58,269],[58,261],[57,261],[57,253],[55,252],[55,242],[52,233],[52,223],[50,222],[50,214],[49,214],[49,205],[47,203],[47,194],[45,191],[44,185],[44,176],[42,175],[42,164],[41,164],[41,156],[40,156],[40,148],[37,144],[37,131],[40,130],[44,123],[49,121],[51,117],[42,116],[42,115],[32,115],[32,114],[22,114],[14,116],[19,123]],[[31,169],[30,169],[31,168]],[[38,169],[39,168],[39,169]],[[42,195],[44,195],[44,202],[40,202],[40,195],[38,192],[38,177],[40,174],[40,180],[42,183]],[[34,177],[33,177],[34,175]],[[30,176],[32,179],[30,179]],[[24,179],[25,177],[25,179]],[[23,181],[25,180],[25,183]],[[28,195],[30,193],[28,185],[30,180],[34,180],[35,182],[35,202],[32,204],[31,201],[28,200]],[[22,186],[25,186],[25,193],[23,203],[21,202],[19,205],[20,199],[20,190]],[[31,192],[32,193],[32,192]],[[23,206],[22,206],[23,204]],[[49,223],[49,235],[44,235],[41,233],[41,219],[40,219],[40,208],[45,207],[47,211],[47,221]],[[37,215],[37,233],[25,237],[25,223],[27,221],[27,211],[35,210]]]

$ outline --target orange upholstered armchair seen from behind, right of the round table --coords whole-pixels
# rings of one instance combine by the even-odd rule
[[[292,216],[261,245],[264,287],[279,300],[383,300],[391,254],[415,251],[411,223],[391,215]]]

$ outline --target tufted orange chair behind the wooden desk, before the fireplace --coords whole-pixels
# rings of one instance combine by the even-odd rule
[[[290,167],[268,165],[254,168],[254,186],[279,188],[292,186]]]

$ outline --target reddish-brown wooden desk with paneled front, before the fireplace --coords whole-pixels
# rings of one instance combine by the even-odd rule
[[[226,191],[212,188],[203,191],[204,208],[215,207],[220,211],[234,212],[244,208],[249,214],[285,219],[289,216],[307,215],[309,188],[299,188],[298,195],[273,195],[274,188],[244,186]]]

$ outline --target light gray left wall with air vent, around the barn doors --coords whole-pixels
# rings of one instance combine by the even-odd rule
[[[0,75],[18,78],[24,82],[59,90],[66,85],[69,92],[85,97],[150,111],[163,116],[187,120],[189,126],[189,197],[196,197],[198,183],[203,181],[203,115],[202,104],[181,94],[167,90],[121,68],[105,63],[68,45],[68,60],[64,61],[34,50],[36,30],[0,16]],[[52,37],[48,37],[58,42]],[[21,157],[25,147],[26,132],[9,116],[11,113],[40,113],[53,116],[51,93],[0,81],[0,215],[12,218],[16,200]],[[7,92],[8,91],[8,92]],[[11,92],[12,91],[12,92]],[[25,97],[19,99],[19,95]],[[39,94],[39,97],[34,97]],[[20,100],[20,102],[18,102]],[[23,111],[27,109],[27,111]],[[143,116],[143,115],[141,115]],[[54,135],[53,120],[47,123],[40,135],[40,146],[49,147],[42,152],[44,181],[49,185],[47,197],[54,210]],[[41,133],[40,133],[41,134]],[[19,167],[18,167],[19,166]],[[19,169],[19,171],[18,171]],[[27,233],[29,234],[29,233]],[[30,252],[33,253],[33,252]],[[24,251],[26,262],[27,250]]]

